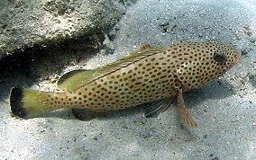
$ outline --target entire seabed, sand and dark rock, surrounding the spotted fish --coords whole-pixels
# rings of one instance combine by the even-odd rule
[[[255,0],[91,2],[100,6],[102,16],[92,14],[96,23],[87,25],[96,28],[79,31],[70,29],[69,22],[79,24],[83,19],[70,15],[87,2],[37,2],[43,5],[36,9],[49,13],[48,17],[41,16],[44,21],[34,20],[35,11],[26,8],[29,1],[14,1],[13,8],[2,2],[1,39],[5,43],[2,41],[0,47],[5,57],[1,59],[0,76],[0,159],[256,159]],[[115,5],[120,12],[109,16],[113,21],[105,24],[105,12],[116,12]],[[20,16],[31,13],[24,19],[45,25],[19,23],[23,21],[19,17],[8,29],[4,20],[13,21],[11,13],[17,9]],[[93,10],[87,9],[87,13]],[[48,23],[50,17],[56,23]],[[25,28],[19,30],[19,25]],[[45,26],[49,30],[44,31]],[[26,32],[30,27],[33,34]],[[73,32],[68,35],[66,30]],[[84,30],[87,36],[79,36]],[[87,121],[75,119],[70,110],[29,120],[10,114],[9,93],[14,86],[56,91],[62,74],[104,66],[145,44],[160,47],[206,40],[233,46],[242,51],[242,58],[215,82],[184,93],[197,128],[180,122],[176,102],[151,119],[145,118],[140,107]],[[34,45],[37,43],[40,45]]]

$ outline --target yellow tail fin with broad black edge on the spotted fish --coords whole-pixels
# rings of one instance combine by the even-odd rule
[[[10,95],[11,110],[14,115],[23,119],[29,119],[57,110],[52,102],[49,102],[49,95],[56,93],[47,93],[31,89],[13,88]]]

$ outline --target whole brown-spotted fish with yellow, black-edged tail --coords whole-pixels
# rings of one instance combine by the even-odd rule
[[[146,117],[155,117],[177,98],[180,119],[197,126],[183,93],[214,81],[240,58],[241,51],[215,40],[159,48],[146,45],[104,67],[61,76],[59,92],[14,87],[11,111],[14,116],[31,119],[63,108],[78,113],[105,112],[145,104]]]

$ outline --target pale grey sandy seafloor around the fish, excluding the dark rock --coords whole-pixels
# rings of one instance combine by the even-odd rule
[[[143,44],[215,39],[241,49],[242,60],[224,76],[185,93],[199,126],[182,125],[175,102],[151,119],[141,109],[89,121],[69,110],[16,119],[8,93],[23,78],[14,75],[1,84],[0,159],[256,159],[255,24],[255,0],[138,1],[115,26],[114,54],[98,53],[85,67],[103,66]]]

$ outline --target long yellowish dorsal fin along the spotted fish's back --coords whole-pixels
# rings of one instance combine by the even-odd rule
[[[120,58],[109,65],[105,65],[104,67],[98,67],[94,70],[78,70],[74,71],[74,73],[71,71],[71,74],[68,73],[68,75],[64,75],[64,78],[60,78],[60,82],[58,83],[59,89],[69,92],[76,90],[82,85],[89,84],[97,78],[108,75],[122,67],[127,67],[142,58],[147,58],[151,55],[160,53],[163,49],[165,49],[165,47],[142,49],[133,52],[124,58]]]

